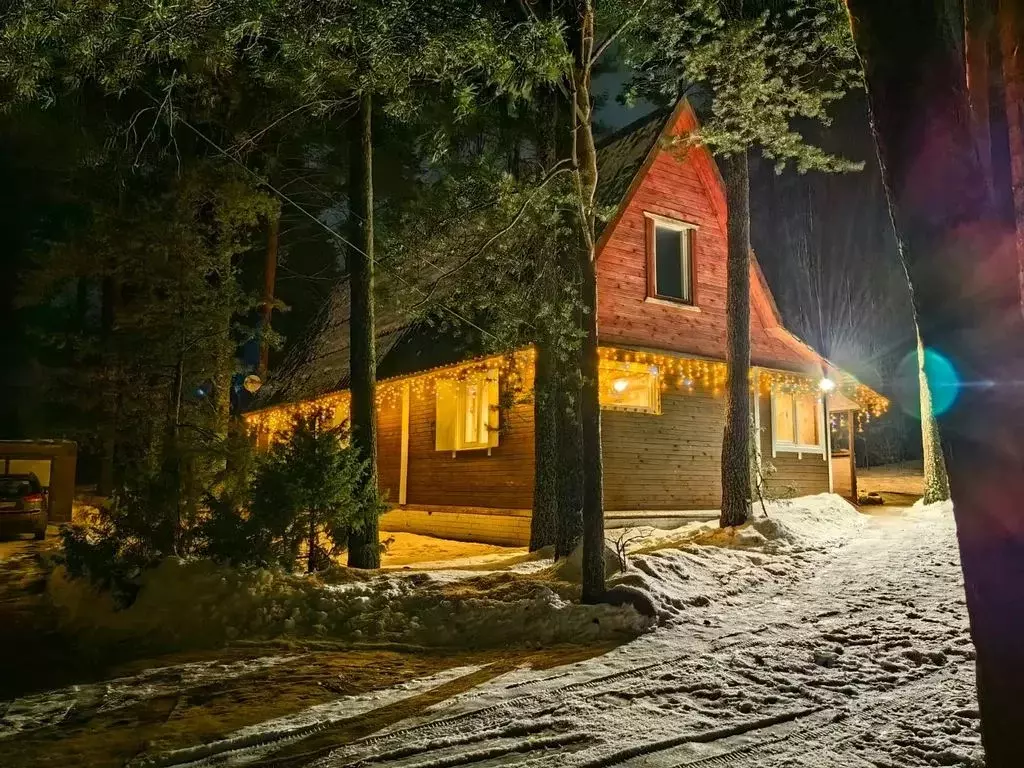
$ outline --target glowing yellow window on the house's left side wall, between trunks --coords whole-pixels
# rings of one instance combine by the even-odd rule
[[[437,451],[474,451],[498,444],[498,371],[436,383]]]

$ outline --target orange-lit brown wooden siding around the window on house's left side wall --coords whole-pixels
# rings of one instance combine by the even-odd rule
[[[395,471],[392,499],[397,498],[398,459],[401,453],[400,409],[399,438],[388,449],[394,456]],[[409,478],[407,505],[446,507],[506,507],[528,509],[534,506],[534,406],[517,403],[501,415],[501,436],[497,446],[486,451],[460,451],[455,456],[434,450],[436,429],[432,389],[414,392],[409,409]],[[379,423],[383,423],[381,419]],[[383,431],[383,430],[382,430]],[[384,461],[383,440],[378,461]],[[384,487],[384,473],[381,473]]]

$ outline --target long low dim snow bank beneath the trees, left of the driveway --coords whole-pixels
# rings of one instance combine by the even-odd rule
[[[173,558],[143,574],[137,599],[124,610],[87,583],[69,580],[62,568],[50,579],[49,596],[79,636],[131,638],[163,648],[279,635],[537,646],[625,639],[649,623],[629,607],[580,605],[571,585],[516,573],[444,583],[426,573],[367,577],[336,569],[322,579]]]

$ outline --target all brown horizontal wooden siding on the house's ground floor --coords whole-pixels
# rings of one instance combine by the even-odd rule
[[[770,399],[762,396],[759,408],[762,457],[775,467],[775,472],[767,478],[772,493],[796,497],[826,492],[828,464],[819,455],[805,454],[801,458],[780,453],[772,458]],[[708,510],[717,509],[721,503],[724,398],[670,390],[662,395],[662,409],[660,415],[601,412],[606,510]],[[501,441],[490,456],[485,451],[467,451],[453,457],[450,452],[434,450],[432,394],[414,394],[410,403],[407,508],[428,508],[429,512],[430,507],[519,510],[532,507],[532,404],[517,403],[502,416]],[[399,401],[379,414],[378,440],[380,485],[394,502],[401,453]],[[417,523],[418,530],[429,528],[428,512],[417,512],[423,517]],[[461,537],[470,536],[462,531],[467,526],[497,524],[478,516],[450,517],[439,516],[437,525],[445,534],[461,531]],[[513,543],[510,530],[496,528],[492,540]],[[440,528],[434,532],[441,532]],[[480,534],[484,534],[483,528]]]

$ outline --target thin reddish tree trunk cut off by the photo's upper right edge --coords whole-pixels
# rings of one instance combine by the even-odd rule
[[[1017,280],[1024,313],[1024,9],[1020,0],[999,0],[998,27],[1017,234]]]

